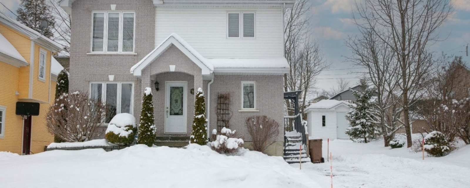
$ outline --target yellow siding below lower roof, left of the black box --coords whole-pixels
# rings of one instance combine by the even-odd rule
[[[0,106],[6,107],[5,136],[0,138],[0,151],[21,153],[23,121],[15,114],[18,97],[19,68],[0,62]]]

